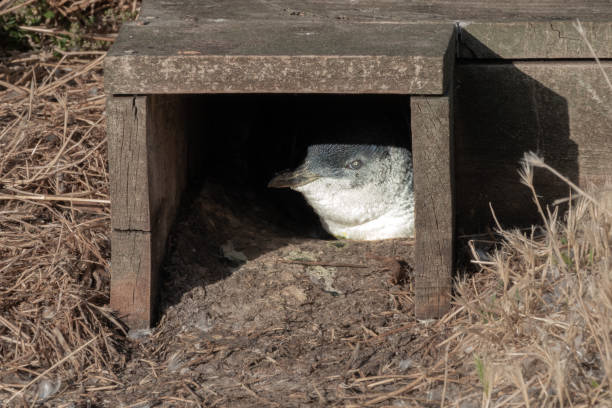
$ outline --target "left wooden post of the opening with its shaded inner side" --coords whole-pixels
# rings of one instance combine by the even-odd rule
[[[130,328],[155,319],[159,268],[186,181],[181,102],[171,95],[107,100],[111,307]]]

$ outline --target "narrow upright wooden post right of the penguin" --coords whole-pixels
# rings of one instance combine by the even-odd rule
[[[416,196],[416,316],[444,315],[453,268],[453,156],[449,97],[413,97]]]

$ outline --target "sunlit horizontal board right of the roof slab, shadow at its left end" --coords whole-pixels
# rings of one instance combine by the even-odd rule
[[[574,23],[530,20],[461,24],[458,55],[473,59],[593,58]],[[582,26],[597,56],[611,58],[612,18],[583,22]]]

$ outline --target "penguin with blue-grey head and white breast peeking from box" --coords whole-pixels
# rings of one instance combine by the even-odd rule
[[[301,192],[337,238],[376,240],[414,235],[412,156],[405,147],[322,143],[303,164],[269,187]]]

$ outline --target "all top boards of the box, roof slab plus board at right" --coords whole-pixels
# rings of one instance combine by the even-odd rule
[[[612,57],[603,0],[149,0],[108,53],[105,89],[441,95],[456,27],[463,58],[591,58],[576,18],[598,55]]]

